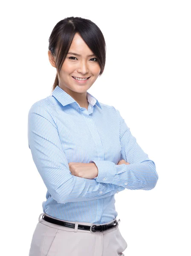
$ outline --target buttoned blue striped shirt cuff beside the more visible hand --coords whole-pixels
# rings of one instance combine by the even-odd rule
[[[89,163],[95,163],[98,168],[98,176],[94,178],[99,183],[112,183],[115,176],[115,163],[110,161],[96,160]]]

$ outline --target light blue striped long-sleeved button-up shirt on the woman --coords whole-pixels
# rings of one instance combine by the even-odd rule
[[[153,189],[155,163],[136,142],[119,111],[87,92],[88,109],[57,85],[28,115],[32,158],[47,188],[43,212],[65,221],[104,224],[118,215],[115,194]],[[119,160],[129,165],[117,165]],[[95,163],[94,179],[71,174],[68,163]]]

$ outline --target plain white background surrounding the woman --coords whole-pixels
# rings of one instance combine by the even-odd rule
[[[1,254],[26,256],[46,186],[28,147],[30,107],[51,94],[48,38],[65,17],[92,20],[107,46],[88,90],[117,108],[156,164],[150,191],[115,195],[127,256],[191,255],[191,2],[8,1],[1,6]],[[4,251],[4,252],[3,252]]]

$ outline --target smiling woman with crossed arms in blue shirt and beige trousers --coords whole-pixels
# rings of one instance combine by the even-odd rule
[[[35,102],[28,119],[29,148],[47,188],[29,256],[124,255],[114,195],[153,189],[155,163],[119,111],[87,92],[105,66],[98,26],[81,17],[59,21],[48,56],[57,70],[52,95]]]

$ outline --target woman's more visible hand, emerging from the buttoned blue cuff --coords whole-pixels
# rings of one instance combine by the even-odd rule
[[[98,176],[98,168],[95,163],[74,163],[71,162],[68,164],[69,170],[72,175],[86,178],[94,179]]]

